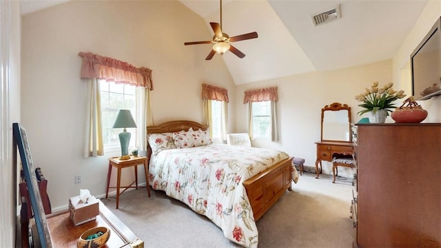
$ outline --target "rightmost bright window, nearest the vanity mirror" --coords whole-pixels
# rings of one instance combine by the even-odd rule
[[[271,101],[252,103],[253,138],[271,138]]]

